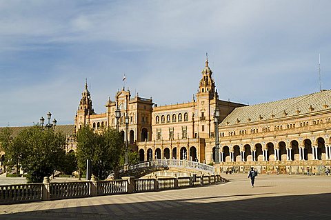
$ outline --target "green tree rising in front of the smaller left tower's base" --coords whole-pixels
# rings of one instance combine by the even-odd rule
[[[92,173],[106,179],[111,170],[119,168],[123,152],[123,138],[113,128],[96,133],[89,126],[83,126],[77,132],[77,161],[82,172],[86,170],[86,160],[90,159]]]

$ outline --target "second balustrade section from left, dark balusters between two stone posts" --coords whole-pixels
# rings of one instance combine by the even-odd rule
[[[50,183],[50,199],[89,197],[90,181]]]

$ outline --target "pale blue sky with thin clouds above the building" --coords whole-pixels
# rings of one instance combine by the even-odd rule
[[[0,126],[46,112],[74,123],[85,79],[94,110],[126,86],[190,101],[205,52],[223,100],[262,103],[331,80],[331,1],[0,0]]]

